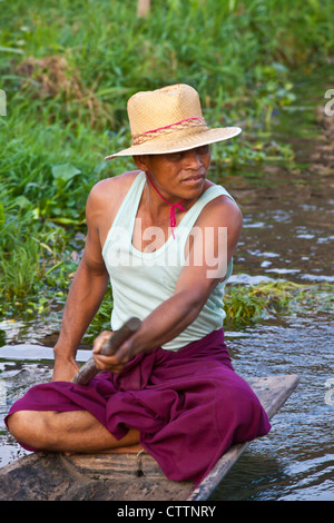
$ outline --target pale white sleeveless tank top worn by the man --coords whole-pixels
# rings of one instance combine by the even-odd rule
[[[175,238],[169,235],[160,248],[153,253],[143,253],[132,246],[132,231],[145,182],[145,172],[139,172],[116,215],[102,248],[114,298],[112,330],[120,328],[129,317],[145,319],[158,305],[173,296],[185,264],[185,245],[200,211],[219,195],[232,198],[222,186],[209,187],[174,229]],[[178,351],[223,326],[226,316],[223,296],[232,266],[230,262],[224,282],[216,286],[197,318],[163,348]]]

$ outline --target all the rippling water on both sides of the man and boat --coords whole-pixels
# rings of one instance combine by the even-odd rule
[[[331,87],[331,86],[330,86]],[[334,82],[333,86],[334,87]],[[294,107],[279,116],[276,140],[293,144],[296,162],[262,167],[224,179],[240,205],[245,225],[232,283],[288,279],[333,283],[334,151],[332,122],[316,114],[325,88],[299,86]],[[303,93],[303,96],[301,96]],[[299,131],[292,134],[292,126]],[[334,501],[334,327],[328,314],[295,313],[228,330],[234,366],[244,377],[298,374],[301,383],[273,418],[272,432],[249,446],[212,500]],[[19,325],[17,325],[19,329]],[[1,415],[32,384],[51,373],[52,338],[0,325]],[[43,337],[45,336],[45,337]],[[27,343],[17,345],[20,338]],[[30,345],[28,344],[30,341]],[[14,345],[13,345],[14,344]],[[48,346],[47,346],[48,345]],[[80,359],[88,357],[80,352]],[[1,423],[0,466],[22,455]]]

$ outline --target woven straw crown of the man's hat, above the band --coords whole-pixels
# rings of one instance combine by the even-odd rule
[[[132,137],[203,117],[198,92],[183,83],[137,92],[128,100],[127,109]]]

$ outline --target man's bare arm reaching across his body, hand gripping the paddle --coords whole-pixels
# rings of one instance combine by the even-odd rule
[[[98,354],[101,344],[108,337],[108,333],[102,333],[95,341],[95,359],[100,369],[107,368],[110,372],[119,372],[121,365],[136,354],[149,352],[178,336],[196,319],[216,285],[224,279],[225,274],[213,275],[210,260],[205,256],[203,264],[194,263],[197,256],[196,251],[200,249],[203,253],[202,240],[205,239],[205,228],[214,228],[214,258],[222,259],[222,257],[225,257],[225,266],[227,267],[242,230],[242,213],[228,197],[213,201],[207,210],[197,223],[204,235],[202,235],[202,238],[199,235],[197,240],[194,239],[190,247],[189,264],[186,264],[183,268],[174,295],[144,319],[140,330],[125,342],[115,356],[108,357]],[[217,240],[219,227],[227,228],[226,246],[222,243],[219,245]]]

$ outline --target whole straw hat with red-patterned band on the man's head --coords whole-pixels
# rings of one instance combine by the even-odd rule
[[[114,155],[159,155],[194,149],[227,140],[239,127],[209,129],[203,118],[198,92],[185,83],[140,91],[128,100],[132,145]]]

